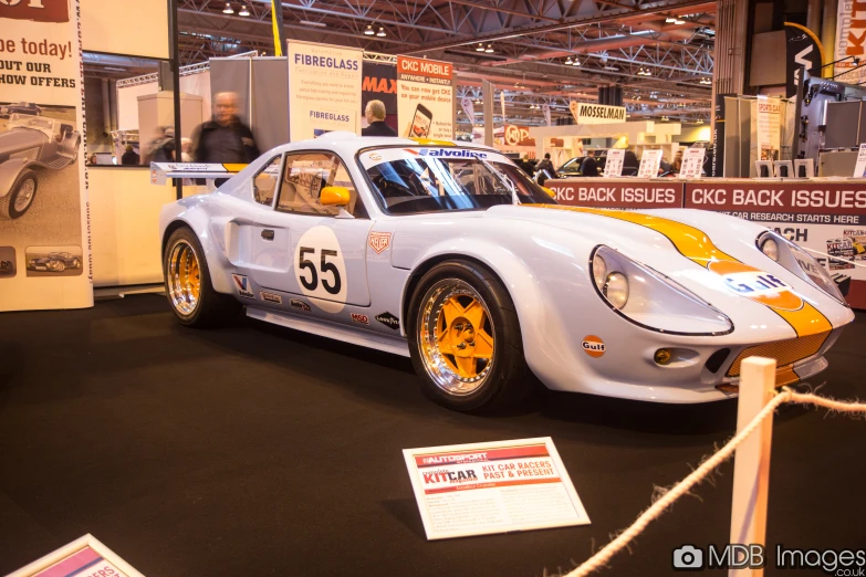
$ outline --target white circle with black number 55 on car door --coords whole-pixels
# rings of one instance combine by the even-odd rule
[[[346,264],[334,232],[313,227],[299,239],[294,255],[295,277],[311,303],[338,313],[346,303]]]

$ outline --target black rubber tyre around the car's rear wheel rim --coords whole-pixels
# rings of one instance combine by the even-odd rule
[[[179,308],[175,298],[175,293],[169,283],[168,271],[170,269],[170,259],[181,244],[191,248],[198,262],[199,296],[195,307],[185,313]],[[213,290],[210,282],[210,270],[207,260],[204,258],[205,251],[201,243],[188,227],[180,227],[175,230],[166,242],[166,250],[163,254],[163,279],[166,286],[166,297],[168,304],[180,324],[195,327],[207,328],[222,326],[234,319],[243,307],[232,295],[218,293]]]

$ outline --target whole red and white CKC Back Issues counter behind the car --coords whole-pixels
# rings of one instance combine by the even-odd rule
[[[689,208],[758,222],[808,250],[848,304],[866,308],[866,179],[571,178],[545,186],[567,206]]]

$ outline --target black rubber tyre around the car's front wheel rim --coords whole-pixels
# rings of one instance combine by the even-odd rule
[[[438,385],[428,371],[422,352],[425,306],[445,283],[457,280],[468,284],[483,301],[493,337],[489,373],[471,392],[451,394]],[[430,269],[418,283],[409,303],[407,335],[415,371],[424,392],[436,402],[458,411],[490,411],[513,407],[529,397],[535,380],[523,355],[520,322],[508,291],[497,275],[477,263],[452,260]],[[428,317],[428,324],[429,324]],[[471,325],[470,325],[471,327]],[[450,328],[447,328],[450,331]]]

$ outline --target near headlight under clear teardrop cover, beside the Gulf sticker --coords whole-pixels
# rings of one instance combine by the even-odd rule
[[[609,246],[595,248],[589,269],[607,304],[644,328],[678,335],[733,331],[727,316],[688,288]]]

